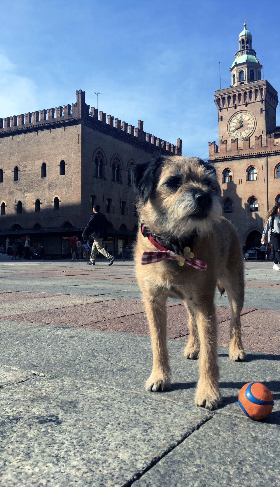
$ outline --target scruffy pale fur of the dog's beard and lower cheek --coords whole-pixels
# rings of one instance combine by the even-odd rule
[[[213,221],[220,220],[222,208],[218,195],[212,196],[211,205],[200,210],[193,196],[184,195],[184,198],[175,204],[165,206],[166,202],[149,201],[140,209],[140,214],[151,232],[163,239],[172,236],[181,239],[190,235],[194,230],[200,236],[207,236],[211,231]],[[158,211],[160,209],[160,212]]]

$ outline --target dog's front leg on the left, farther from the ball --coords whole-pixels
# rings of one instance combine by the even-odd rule
[[[166,343],[166,300],[167,296],[144,295],[153,353],[152,373],[146,382],[146,391],[165,391],[170,386],[170,367]]]

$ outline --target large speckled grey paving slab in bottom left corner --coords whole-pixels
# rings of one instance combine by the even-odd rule
[[[4,390],[1,485],[122,486],[212,417],[158,394],[37,378]],[[164,425],[164,427],[163,427]]]

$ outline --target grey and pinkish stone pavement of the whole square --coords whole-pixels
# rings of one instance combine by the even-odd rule
[[[217,292],[221,408],[194,406],[187,316],[168,301],[172,387],[148,393],[149,328],[133,262],[0,256],[0,486],[280,486],[280,272],[245,262],[243,363],[227,356],[230,310]],[[272,391],[261,422],[244,383]]]

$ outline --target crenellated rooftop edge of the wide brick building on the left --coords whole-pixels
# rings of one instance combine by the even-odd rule
[[[131,140],[134,139],[143,143],[145,146],[149,145],[151,148],[160,149],[164,154],[182,154],[182,140],[177,139],[177,144],[170,144],[165,140],[151,135],[143,130],[143,120],[138,120],[138,127],[129,125],[127,122],[114,118],[112,115],[99,112],[97,109],[85,103],[85,92],[82,90],[76,91],[76,102],[72,105],[63,105],[47,110],[37,110],[35,112],[21,113],[20,115],[13,115],[10,117],[0,118],[0,138],[10,134],[19,133],[21,131],[44,130],[53,125],[63,125],[65,123],[73,123],[75,120],[85,120],[92,124],[96,129],[107,128],[109,131],[119,134]],[[98,119],[99,114],[99,119]]]

